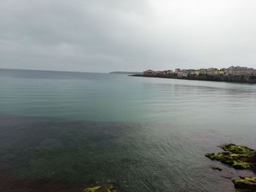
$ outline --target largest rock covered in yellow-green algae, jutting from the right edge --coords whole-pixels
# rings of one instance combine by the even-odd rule
[[[222,149],[224,152],[206,153],[206,157],[235,169],[256,169],[256,150],[233,143],[222,145]]]

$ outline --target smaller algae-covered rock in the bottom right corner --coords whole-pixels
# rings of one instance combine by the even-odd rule
[[[241,179],[233,180],[235,188],[249,189],[256,191],[256,177],[240,177]]]

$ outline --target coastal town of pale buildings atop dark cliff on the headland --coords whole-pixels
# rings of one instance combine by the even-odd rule
[[[246,66],[230,66],[228,68],[208,69],[175,69],[164,71],[146,70],[140,77],[162,77],[184,80],[211,80],[223,82],[250,82],[256,83],[256,69]]]

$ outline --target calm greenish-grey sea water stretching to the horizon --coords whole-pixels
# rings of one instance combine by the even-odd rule
[[[255,124],[256,85],[0,70],[0,174],[15,182],[235,191],[230,178],[253,173],[204,154],[256,148]]]

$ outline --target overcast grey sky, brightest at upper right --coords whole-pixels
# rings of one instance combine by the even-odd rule
[[[255,0],[1,0],[0,68],[256,68]]]

